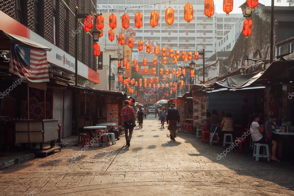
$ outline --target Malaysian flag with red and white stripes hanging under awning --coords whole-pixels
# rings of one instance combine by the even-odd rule
[[[49,82],[46,51],[11,41],[9,72],[30,82]]]

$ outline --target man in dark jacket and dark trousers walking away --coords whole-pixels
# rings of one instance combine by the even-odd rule
[[[168,109],[166,122],[168,121],[169,121],[168,130],[171,133],[171,140],[175,140],[177,123],[180,123],[180,114],[174,105],[171,105],[171,108]]]

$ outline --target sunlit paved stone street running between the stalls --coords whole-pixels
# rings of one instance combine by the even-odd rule
[[[217,160],[225,149],[188,132],[171,141],[149,115],[130,147],[122,136],[109,147],[72,146],[1,170],[0,195],[294,195],[293,163],[233,152]]]

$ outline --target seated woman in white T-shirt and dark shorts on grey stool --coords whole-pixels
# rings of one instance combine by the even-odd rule
[[[266,136],[264,136],[262,134],[264,130],[263,130],[263,126],[259,125],[259,123],[258,123],[259,120],[260,120],[260,114],[259,113],[253,113],[249,117],[248,127],[250,127],[252,140],[255,143],[268,144],[269,146],[271,146],[272,148],[269,148],[269,149],[271,149],[271,150],[269,150],[270,159],[274,160],[274,161],[279,161],[275,157],[275,152],[276,152],[276,149],[277,149],[277,142],[275,140],[267,138]]]

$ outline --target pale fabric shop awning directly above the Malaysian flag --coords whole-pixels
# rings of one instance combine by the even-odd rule
[[[30,48],[36,48],[40,50],[51,51],[51,48],[47,46],[43,46],[39,43],[36,43],[28,38],[14,35],[11,33],[6,33],[0,30],[0,50],[11,50],[11,41],[17,42],[24,46],[28,46]]]

